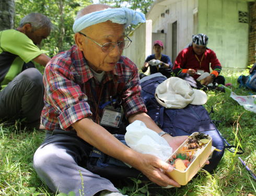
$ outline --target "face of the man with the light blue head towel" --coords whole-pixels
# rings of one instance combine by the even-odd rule
[[[124,26],[111,21],[98,23],[81,32],[101,45],[124,40]],[[101,72],[111,71],[115,68],[123,52],[117,45],[112,51],[103,52],[101,46],[86,36],[77,33],[75,38],[79,50],[83,51],[87,63],[92,69]]]

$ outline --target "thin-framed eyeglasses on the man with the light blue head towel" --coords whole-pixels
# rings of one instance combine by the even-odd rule
[[[86,38],[89,38],[86,34],[82,33],[82,32],[78,32],[84,36],[86,36]],[[96,43],[97,45],[99,45],[101,47],[102,52],[104,53],[109,53],[110,51],[114,50],[115,45],[118,45],[119,50],[123,50],[127,47],[130,46],[130,44],[132,43],[132,40],[130,38],[127,37],[127,35],[125,35],[125,37],[128,40],[123,40],[123,41],[119,41],[119,42],[108,42],[108,43],[104,43],[103,45],[99,44],[98,42],[92,40],[91,38],[89,38],[92,42]]]

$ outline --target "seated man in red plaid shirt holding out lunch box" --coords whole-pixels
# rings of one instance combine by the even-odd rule
[[[117,127],[110,119],[122,116],[121,109],[112,107],[116,99],[121,100],[129,123],[143,121],[173,150],[186,139],[162,132],[146,114],[138,70],[121,56],[131,43],[124,27],[139,22],[145,22],[144,14],[129,8],[89,5],[78,12],[74,22],[76,45],[46,66],[42,123],[47,131],[34,154],[33,167],[50,189],[86,196],[122,195],[108,179],[86,169],[92,146],[142,171],[159,186],[180,187],[164,173],[172,170],[169,164],[132,150],[111,134]]]

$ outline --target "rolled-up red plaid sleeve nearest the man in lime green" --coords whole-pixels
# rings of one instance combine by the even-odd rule
[[[88,97],[75,82],[73,72],[50,64],[45,68],[43,82],[45,104],[52,107],[45,107],[42,112],[47,119],[43,122],[46,129],[52,129],[49,126],[54,120],[62,129],[67,129],[77,120],[92,115],[87,103]]]

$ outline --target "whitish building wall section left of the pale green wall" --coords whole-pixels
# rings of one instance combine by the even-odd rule
[[[193,11],[197,10],[197,0],[180,0],[180,1],[158,1],[155,5],[158,14],[147,15],[147,19],[152,19],[153,33],[166,33],[166,53],[171,59],[175,59],[177,54],[191,42],[191,36],[194,31]],[[196,13],[195,13],[196,14]],[[177,22],[177,38],[173,38],[172,24]],[[173,40],[174,39],[174,40]],[[177,47],[172,47],[172,43],[177,42]],[[173,52],[172,50],[176,50]]]

